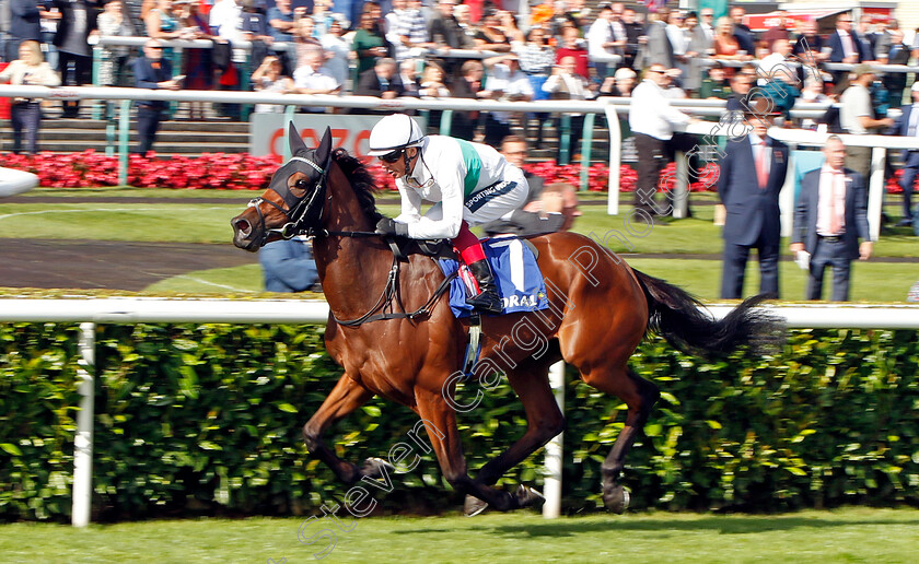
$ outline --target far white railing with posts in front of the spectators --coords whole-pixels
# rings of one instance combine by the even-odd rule
[[[597,114],[606,117],[609,136],[609,156],[607,180],[607,212],[610,215],[619,213],[619,166],[621,164],[623,133],[619,127],[621,115],[628,115],[630,98],[603,97],[596,101],[545,101],[545,102],[500,102],[474,101],[465,98],[451,99],[418,99],[400,97],[381,99],[371,96],[336,96],[321,94],[274,94],[263,92],[214,92],[214,91],[166,91],[147,89],[117,87],[47,87],[24,85],[0,85],[0,96],[27,97],[45,99],[117,99],[121,101],[118,116],[117,146],[119,156],[119,184],[128,181],[128,138],[130,133],[130,109],[132,101],[165,101],[165,102],[217,102],[240,104],[277,104],[284,106],[289,116],[301,106],[326,106],[334,108],[362,108],[373,110],[408,110],[421,109],[443,110],[441,132],[450,133],[450,122],[453,111],[534,111],[561,114],[562,143],[561,153],[569,154],[568,134],[570,131],[570,114],[584,114],[583,134],[581,140],[582,162],[590,163],[593,151],[593,130]],[[713,99],[674,99],[674,107],[701,117],[717,117],[725,115],[724,101]],[[792,117],[818,118],[829,108],[828,103],[796,103],[791,110]],[[329,119],[334,119],[330,117]],[[713,144],[717,137],[736,136],[735,127],[725,127],[721,121],[703,121],[691,124],[686,131],[703,136],[700,145]],[[776,139],[787,141],[793,145],[822,146],[827,134],[809,130],[771,128],[769,134]],[[287,136],[287,131],[284,131]],[[114,138],[114,127],[109,126],[109,137]],[[884,193],[884,160],[888,149],[919,149],[919,138],[894,136],[841,136],[849,146],[870,146],[872,151],[872,167],[869,183],[869,221],[872,238],[876,239],[881,230],[881,209]],[[286,141],[286,140],[284,140]],[[287,142],[282,143],[287,148]],[[700,146],[701,148],[701,146]],[[109,145],[110,149],[110,145]],[[686,160],[677,158],[676,189],[673,199],[674,216],[683,218],[687,209],[687,175]],[[590,171],[581,167],[581,189],[588,188]],[[793,209],[793,178],[787,176],[786,187],[780,197],[782,205],[782,230],[784,234],[791,231],[791,214]]]

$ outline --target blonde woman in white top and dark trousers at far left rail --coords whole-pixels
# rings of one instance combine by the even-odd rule
[[[57,86],[60,77],[45,62],[38,42],[20,44],[20,58],[0,72],[0,82],[33,86]],[[10,107],[10,124],[13,127],[13,153],[22,150],[22,132],[25,130],[26,151],[38,151],[38,126],[42,124],[42,106],[31,98],[13,98]]]

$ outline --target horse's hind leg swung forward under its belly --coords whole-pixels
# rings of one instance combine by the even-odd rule
[[[489,460],[476,475],[476,480],[495,484],[504,472],[524,461],[554,436],[565,431],[565,415],[556,403],[548,380],[546,362],[521,364],[508,371],[508,381],[523,402],[526,411],[526,433],[509,449]]]

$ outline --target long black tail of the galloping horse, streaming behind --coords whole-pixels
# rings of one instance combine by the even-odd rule
[[[781,342],[782,324],[771,314],[754,309],[766,295],[748,297],[721,320],[713,319],[687,292],[633,270],[648,299],[648,330],[677,349],[701,356],[718,356],[747,344],[761,349]]]

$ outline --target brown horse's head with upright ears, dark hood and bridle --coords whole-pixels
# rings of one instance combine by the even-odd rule
[[[233,244],[256,251],[269,240],[310,234],[322,223],[326,177],[331,165],[331,131],[326,128],[319,146],[306,149],[290,125],[290,161],[278,168],[271,184],[246,210],[230,220]]]

